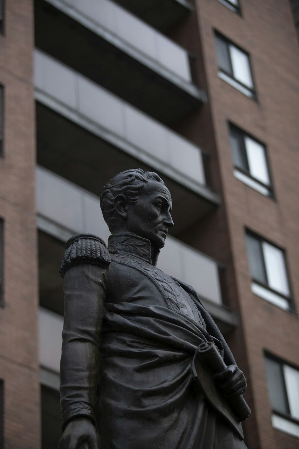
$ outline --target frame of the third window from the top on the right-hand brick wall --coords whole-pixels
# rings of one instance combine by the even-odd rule
[[[242,158],[244,159],[245,166],[246,166],[246,167],[240,167],[238,164],[235,163],[234,158],[233,158],[235,178],[242,181],[244,184],[248,185],[252,189],[257,190],[264,196],[274,198],[272,176],[271,176],[270,167],[269,167],[269,158],[268,158],[268,154],[267,154],[265,145],[262,144],[257,139],[255,139],[254,137],[252,137],[251,135],[247,134],[247,132],[244,132],[242,129],[233,125],[232,123],[229,123],[229,128],[230,128],[230,138],[234,137],[237,139],[238,147],[239,147],[240,153],[242,155]],[[269,180],[269,182],[267,184],[262,182],[260,179],[258,179],[256,176],[254,176],[252,174],[252,170],[250,167],[251,164],[250,164],[250,160],[248,157],[248,156],[250,156],[250,154],[249,154],[250,150],[247,147],[248,139],[253,141],[257,145],[260,145],[264,151],[264,163],[265,163],[265,167],[267,169],[267,176],[268,176],[268,180]],[[232,149],[232,151],[233,151],[233,149]]]

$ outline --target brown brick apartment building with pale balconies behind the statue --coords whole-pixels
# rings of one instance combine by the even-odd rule
[[[131,167],[173,195],[158,266],[247,376],[248,448],[298,447],[298,2],[1,8],[0,449],[56,447],[64,242],[107,241],[100,189]]]

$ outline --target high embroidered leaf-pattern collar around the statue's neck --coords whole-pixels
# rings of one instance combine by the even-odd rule
[[[154,266],[156,266],[158,255],[160,254],[158,250],[154,260],[152,260],[151,242],[147,238],[132,233],[110,235],[108,239],[108,251],[112,254],[131,254]]]

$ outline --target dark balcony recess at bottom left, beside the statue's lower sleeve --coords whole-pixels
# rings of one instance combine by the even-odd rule
[[[41,386],[42,396],[42,449],[57,449],[61,437],[60,394]]]

